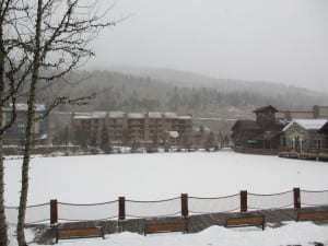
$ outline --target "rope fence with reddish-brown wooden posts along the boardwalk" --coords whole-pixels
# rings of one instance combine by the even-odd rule
[[[26,224],[175,215],[186,218],[189,214],[198,213],[246,212],[282,208],[300,209],[301,207],[327,204],[328,190],[313,191],[301,190],[300,188],[271,195],[250,194],[242,190],[239,194],[216,198],[188,197],[187,194],[183,194],[180,197],[156,201],[126,200],[125,197],[119,197],[118,200],[91,204],[73,204],[50,200],[47,203],[27,207]],[[16,223],[16,207],[5,207],[5,214],[9,223]]]

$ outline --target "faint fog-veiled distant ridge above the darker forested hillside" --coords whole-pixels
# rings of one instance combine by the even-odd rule
[[[221,92],[254,92],[260,94],[261,96],[268,96],[269,98],[290,94],[294,94],[295,96],[318,96],[318,103],[328,103],[328,99],[325,99],[325,97],[328,96],[328,91],[316,92],[301,86],[290,86],[268,81],[247,81],[237,80],[234,78],[216,79],[194,72],[164,68],[112,67],[109,71],[118,71],[137,77],[149,77],[153,80],[162,81],[176,86],[212,87]],[[293,106],[291,105],[291,107]]]

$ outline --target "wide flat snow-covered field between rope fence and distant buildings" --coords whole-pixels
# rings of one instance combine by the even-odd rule
[[[22,160],[5,161],[5,204],[19,203]],[[35,157],[28,204],[58,199],[94,203],[161,200],[186,192],[221,197],[248,190],[276,194],[300,187],[328,189],[328,163],[238,154],[231,151]]]

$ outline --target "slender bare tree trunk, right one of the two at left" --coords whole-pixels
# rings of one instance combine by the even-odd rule
[[[34,50],[34,63],[32,71],[32,80],[30,86],[30,95],[27,101],[27,116],[26,116],[26,129],[25,129],[25,145],[24,145],[24,156],[22,164],[22,188],[21,188],[21,199],[19,208],[17,218],[17,243],[19,246],[26,246],[24,225],[25,225],[25,213],[28,194],[28,168],[30,168],[30,154],[33,143],[33,127],[35,120],[35,97],[36,97],[36,84],[38,81],[38,73],[40,67],[40,27],[42,27],[42,7],[43,0],[37,1],[37,16],[35,25],[35,50]]]

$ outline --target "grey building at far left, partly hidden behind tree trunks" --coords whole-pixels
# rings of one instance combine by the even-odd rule
[[[3,120],[9,121],[11,118],[12,107],[5,107],[3,110]],[[14,124],[5,130],[3,136],[3,143],[7,145],[22,145],[25,139],[26,129],[26,114],[27,104],[16,104],[15,105],[16,118]],[[35,105],[35,117],[40,117],[45,114],[45,105]],[[45,144],[47,141],[47,121],[44,118],[34,122],[33,129],[33,143],[34,144]]]

